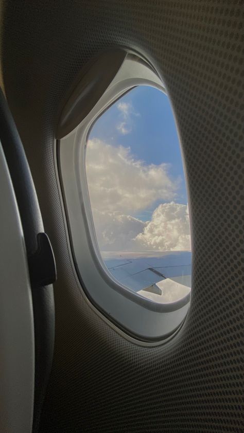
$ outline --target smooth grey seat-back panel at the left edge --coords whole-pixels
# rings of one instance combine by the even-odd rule
[[[0,431],[30,433],[34,401],[34,327],[20,215],[0,143]]]

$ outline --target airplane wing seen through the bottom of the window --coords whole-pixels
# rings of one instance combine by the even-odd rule
[[[190,293],[190,251],[103,251],[113,277],[155,302],[176,302]]]

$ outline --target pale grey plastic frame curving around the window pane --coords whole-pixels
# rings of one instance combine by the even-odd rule
[[[179,301],[160,304],[114,279],[101,258],[96,241],[85,173],[87,137],[94,122],[116,100],[138,85],[150,85],[166,93],[155,71],[142,59],[135,60],[135,56],[128,54],[90,113],[71,133],[56,141],[56,169],[82,295],[126,334],[141,341],[162,342],[175,334],[184,322],[190,294]]]

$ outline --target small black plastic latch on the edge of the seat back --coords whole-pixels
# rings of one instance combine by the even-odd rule
[[[38,233],[37,251],[28,257],[31,287],[52,284],[57,279],[54,251],[46,233]]]

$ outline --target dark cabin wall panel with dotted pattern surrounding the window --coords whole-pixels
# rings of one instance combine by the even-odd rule
[[[58,266],[41,432],[244,431],[243,2],[8,0],[2,20],[5,91]],[[114,45],[144,53],[162,74],[188,175],[191,306],[180,333],[156,348],[119,336],[82,298],[55,179],[65,93]]]

